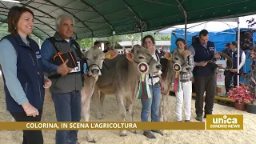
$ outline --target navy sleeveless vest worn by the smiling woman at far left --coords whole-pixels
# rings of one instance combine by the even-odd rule
[[[38,110],[42,110],[45,89],[43,88],[44,75],[38,44],[27,37],[26,39],[30,42],[30,46],[26,46],[18,34],[9,34],[4,38],[10,41],[17,52],[17,78],[22,85],[26,98],[28,98],[32,106]],[[22,106],[18,105],[10,96],[10,92],[6,87],[4,74],[2,74],[2,76],[6,93],[7,110],[10,112],[23,112]]]

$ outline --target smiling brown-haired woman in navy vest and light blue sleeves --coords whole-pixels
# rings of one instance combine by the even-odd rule
[[[16,122],[40,122],[45,89],[51,82],[43,75],[37,42],[29,38],[34,14],[26,7],[14,6],[7,19],[10,34],[0,41],[6,109]],[[42,144],[42,130],[23,130],[22,143]]]

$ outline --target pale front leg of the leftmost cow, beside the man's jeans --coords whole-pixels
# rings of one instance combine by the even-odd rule
[[[98,92],[98,90],[94,90],[94,92]],[[83,91],[82,91],[83,92]],[[90,98],[91,96],[82,94],[82,114],[81,114],[81,120],[82,122],[89,122],[90,120]],[[93,138],[93,134],[90,130],[86,130],[87,132],[87,140],[88,142],[95,143],[95,140]]]

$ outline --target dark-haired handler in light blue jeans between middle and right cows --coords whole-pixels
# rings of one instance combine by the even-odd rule
[[[160,63],[160,58],[158,55],[158,51],[154,49],[154,38],[151,35],[146,35],[143,40],[143,47],[150,50],[153,58],[156,59]],[[162,73],[160,71],[160,73]],[[142,98],[142,113],[141,119],[142,122],[148,122],[148,118],[151,112],[151,122],[159,122],[158,112],[159,112],[159,105],[162,98],[161,90],[162,90],[162,83],[161,83],[161,75],[151,75],[149,76],[148,82],[150,85],[150,92],[152,98],[143,99]],[[154,133],[162,134],[160,130],[151,130]],[[156,138],[150,130],[144,130],[143,135],[147,138]]]

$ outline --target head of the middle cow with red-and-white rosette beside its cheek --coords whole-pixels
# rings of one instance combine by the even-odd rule
[[[162,69],[162,65],[152,57],[150,51],[139,45],[135,45],[130,53],[126,54],[126,58],[137,65],[140,62],[146,62],[149,65],[148,73],[150,74],[158,74],[158,71]]]

